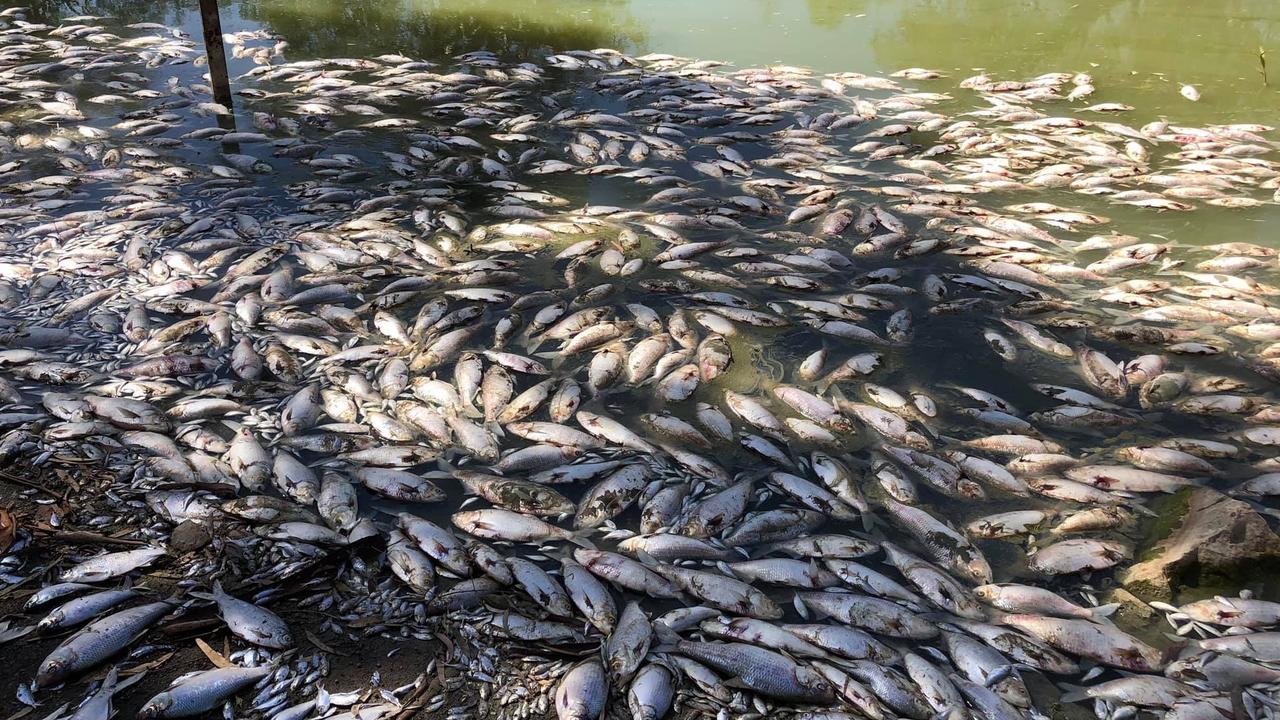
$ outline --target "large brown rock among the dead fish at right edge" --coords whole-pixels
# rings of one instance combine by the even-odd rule
[[[1211,488],[1196,488],[1180,524],[1121,573],[1120,582],[1146,600],[1169,601],[1185,584],[1220,584],[1245,565],[1280,560],[1280,536],[1248,503]]]

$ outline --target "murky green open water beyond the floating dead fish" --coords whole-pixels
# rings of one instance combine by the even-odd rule
[[[193,1],[35,5],[47,5],[45,17],[102,13],[178,24],[196,37],[200,31]],[[1212,124],[1280,117],[1280,4],[1271,0],[242,0],[224,3],[221,17],[225,32],[279,35],[291,59],[383,53],[442,59],[476,49],[541,58],[616,47],[818,72],[922,67],[950,76],[915,83],[938,91],[978,72],[1006,79],[1088,72],[1098,92],[1075,106],[1125,102],[1134,110],[1117,119],[1134,126],[1157,118]],[[1268,58],[1260,55],[1268,50]],[[230,59],[233,77],[252,67]],[[1199,90],[1199,101],[1179,95],[1183,83]],[[591,200],[609,201],[598,192]],[[1280,243],[1267,228],[1268,220],[1280,222],[1275,206],[1164,215],[1107,209],[1116,222],[1140,219],[1157,240]]]

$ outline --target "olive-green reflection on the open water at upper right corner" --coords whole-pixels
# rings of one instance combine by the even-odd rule
[[[1280,92],[1263,87],[1257,72],[1258,49],[1280,44],[1280,3],[1274,0],[896,5],[895,22],[877,23],[872,33],[876,58],[886,69],[931,63],[1001,77],[1088,72],[1098,81],[1102,100],[1181,122],[1274,117],[1280,102]],[[1181,99],[1181,83],[1198,86],[1202,100]]]

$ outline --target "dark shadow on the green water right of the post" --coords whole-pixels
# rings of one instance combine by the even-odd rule
[[[447,58],[471,50],[530,58],[553,50],[634,49],[646,37],[626,0],[244,0],[234,12],[283,36],[294,58]]]

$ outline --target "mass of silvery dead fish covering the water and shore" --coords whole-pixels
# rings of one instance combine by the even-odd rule
[[[230,666],[143,715],[397,712],[317,687],[288,596],[452,628],[485,715],[1272,716],[1280,605],[1170,641],[1096,600],[1153,493],[1280,493],[1276,250],[1106,217],[1268,210],[1272,128],[1069,73],[228,40],[234,115],[174,31],[0,14],[0,460],[76,498],[3,561],[6,637],[69,633],[19,696],[216,607]]]

